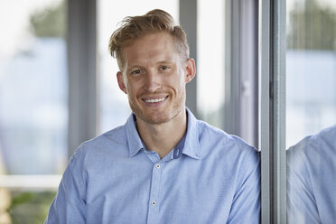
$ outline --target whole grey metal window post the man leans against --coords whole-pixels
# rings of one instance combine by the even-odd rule
[[[285,1],[259,5],[259,88],[262,223],[285,223]]]

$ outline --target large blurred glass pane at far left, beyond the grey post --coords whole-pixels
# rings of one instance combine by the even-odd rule
[[[67,162],[66,3],[0,3],[0,174]]]

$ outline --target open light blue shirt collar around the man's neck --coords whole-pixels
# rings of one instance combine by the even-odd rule
[[[182,138],[178,146],[184,145],[182,154],[186,154],[194,159],[201,159],[201,150],[199,143],[199,128],[196,117],[194,117],[189,108],[186,107],[188,114],[188,126],[186,135]],[[144,148],[142,140],[135,127],[135,114],[131,114],[126,121],[126,136],[129,148],[129,156],[133,157]],[[180,157],[180,156],[179,156]]]

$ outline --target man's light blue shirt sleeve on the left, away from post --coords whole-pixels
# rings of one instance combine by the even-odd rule
[[[59,191],[51,203],[44,224],[85,223],[85,182],[79,159],[74,154],[63,173]]]

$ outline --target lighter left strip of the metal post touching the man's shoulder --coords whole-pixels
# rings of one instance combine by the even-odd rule
[[[259,141],[261,151],[261,223],[271,223],[271,156],[270,156],[270,83],[269,83],[269,52],[270,52],[270,3],[259,2]]]

